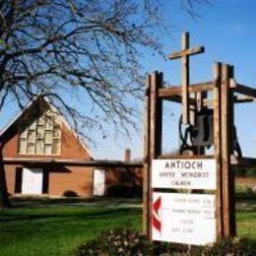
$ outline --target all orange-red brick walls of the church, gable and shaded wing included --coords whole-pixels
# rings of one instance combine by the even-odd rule
[[[62,122],[61,148],[59,156],[20,155],[18,153],[19,132],[17,122],[14,122],[8,130],[2,134],[4,147],[3,158],[8,192],[12,195],[21,194],[18,184],[19,171],[23,168],[42,168],[43,193],[46,196],[63,196],[67,191],[74,192],[78,196],[91,197],[94,190],[94,166],[81,164],[56,164],[50,162],[38,162],[40,160],[93,160],[88,150],[83,147],[76,138],[74,132]],[[17,163],[15,160],[28,160],[26,163]],[[7,161],[9,160],[9,161]],[[11,161],[10,161],[11,160]],[[12,160],[14,160],[12,162]],[[33,162],[32,160],[36,160]],[[105,192],[111,194],[118,187],[141,187],[141,168],[109,167],[106,170]],[[21,176],[21,175],[20,175]],[[112,189],[112,190],[111,190]],[[18,191],[18,192],[17,192]]]

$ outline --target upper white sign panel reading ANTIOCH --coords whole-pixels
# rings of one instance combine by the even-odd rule
[[[153,188],[216,189],[216,160],[153,160]]]

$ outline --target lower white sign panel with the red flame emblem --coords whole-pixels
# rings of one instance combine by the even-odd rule
[[[205,245],[216,241],[215,195],[153,193],[152,239]]]

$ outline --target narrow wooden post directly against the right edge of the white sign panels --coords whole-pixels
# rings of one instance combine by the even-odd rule
[[[222,85],[222,66],[221,63],[214,65],[214,147],[215,159],[217,161],[217,236],[224,236],[223,222],[223,172],[222,172],[222,133],[221,133],[221,85]]]

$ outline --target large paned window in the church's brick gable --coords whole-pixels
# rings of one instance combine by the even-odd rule
[[[60,155],[61,127],[56,113],[45,111],[20,131],[20,155]]]

